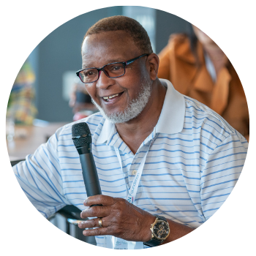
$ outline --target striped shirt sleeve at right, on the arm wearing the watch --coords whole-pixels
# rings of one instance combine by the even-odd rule
[[[208,155],[201,176],[201,205],[206,220],[225,203],[241,176],[249,144],[233,133]]]

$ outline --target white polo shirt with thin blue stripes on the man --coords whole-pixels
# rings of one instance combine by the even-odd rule
[[[243,170],[249,144],[227,121],[168,80],[159,121],[136,154],[100,113],[67,124],[26,161],[12,167],[20,187],[45,217],[66,205],[83,210],[86,188],[72,125],[86,121],[103,195],[127,199],[147,153],[134,205],[151,214],[200,227],[225,203]],[[121,157],[119,163],[116,148]],[[102,243],[101,237],[96,237]]]

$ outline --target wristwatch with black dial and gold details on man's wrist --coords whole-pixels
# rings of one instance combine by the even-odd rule
[[[156,220],[154,223],[151,224],[150,230],[152,233],[151,240],[145,242],[144,244],[155,247],[159,244],[162,244],[163,241],[169,236],[170,234],[170,227],[169,223],[165,219],[165,217],[161,217],[159,215],[154,215]]]

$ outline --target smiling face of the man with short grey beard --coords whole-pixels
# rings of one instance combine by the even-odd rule
[[[128,61],[142,55],[132,38],[124,31],[92,34],[83,42],[83,69],[103,67],[117,61]],[[138,116],[151,96],[151,79],[146,69],[146,56],[126,67],[119,78],[108,78],[100,72],[99,80],[87,83],[86,90],[97,108],[113,123],[122,123]],[[103,99],[118,94],[111,99]]]

